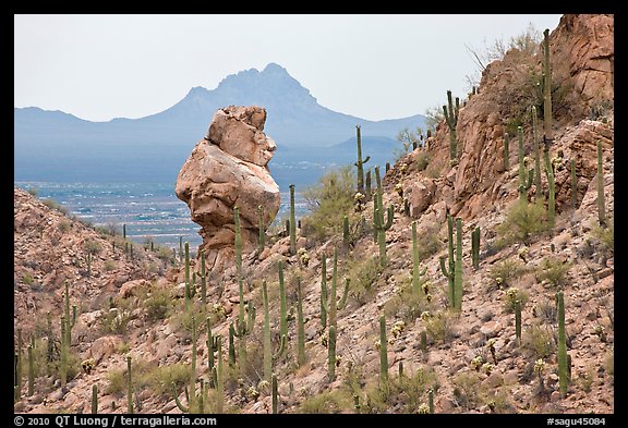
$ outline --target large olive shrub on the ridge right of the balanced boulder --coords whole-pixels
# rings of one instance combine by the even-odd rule
[[[353,209],[355,179],[350,167],[335,169],[323,175],[318,183],[306,188],[303,197],[309,216],[301,220],[303,234],[325,240],[342,233],[342,219],[357,224],[359,215]]]

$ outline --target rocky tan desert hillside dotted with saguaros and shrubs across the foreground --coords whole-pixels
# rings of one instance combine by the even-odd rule
[[[299,250],[292,255],[288,236],[269,234],[263,252],[243,256],[244,319],[252,307],[255,317],[249,331],[232,340],[230,325],[235,333],[242,327],[234,266],[207,273],[203,303],[202,264],[193,258],[196,293],[188,299],[184,265],[171,266],[170,254],[135,248],[132,259],[120,237],[99,234],[15,189],[14,332],[23,338],[15,411],[88,412],[96,386],[99,412],[128,412],[130,356],[136,413],[180,413],[174,395],[188,406],[183,390],[191,383],[196,393],[212,384],[203,394],[205,411],[270,413],[264,365],[266,282],[279,413],[422,413],[428,412],[430,391],[435,413],[614,413],[613,28],[613,16],[565,15],[550,37],[557,64],[548,147],[555,181],[553,228],[547,227],[546,174],[541,174],[539,189],[532,181],[519,194],[516,133],[521,126],[528,171],[534,166],[530,107],[542,106],[535,93],[542,54],[511,50],[485,70],[478,93],[461,102],[457,160],[449,160],[449,130],[443,122],[425,148],[400,159],[384,175],[383,203],[394,207],[385,232],[386,262],[374,242],[373,201],[351,213],[349,246],[341,234],[315,237],[304,227],[298,230]],[[538,121],[542,135],[542,114]],[[508,166],[505,133],[510,134]],[[604,227],[597,204],[599,142]],[[460,219],[460,244],[456,230],[448,234],[449,216]],[[360,218],[363,222],[354,221]],[[413,223],[421,290],[412,289]],[[480,252],[473,266],[471,236],[478,227]],[[451,307],[440,266],[445,257],[443,267],[450,269],[450,242],[461,248],[460,310]],[[94,249],[98,246],[100,250]],[[336,281],[334,248],[339,250]],[[89,271],[87,253],[94,253]],[[283,348],[280,260],[288,331]],[[345,278],[350,279],[346,302]],[[337,283],[341,301],[336,340],[329,331],[334,329],[322,328],[322,279],[327,289]],[[65,281],[77,315],[68,346],[68,382],[62,386]],[[304,321],[301,362],[298,283]],[[557,291],[564,292],[570,370],[566,396],[559,392]],[[327,326],[331,317],[328,310]],[[222,338],[221,353],[214,353],[222,362],[217,382],[222,390],[208,369],[214,358],[206,319],[213,335]],[[32,394],[26,358],[31,338],[37,360]],[[334,347],[335,362],[329,364]],[[81,362],[87,362],[84,369]],[[198,408],[196,402],[192,409]]]

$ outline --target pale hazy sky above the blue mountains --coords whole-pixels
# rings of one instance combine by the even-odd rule
[[[482,50],[560,15],[15,15],[14,106],[107,121],[162,111],[191,87],[285,66],[318,102],[369,120],[463,97]]]

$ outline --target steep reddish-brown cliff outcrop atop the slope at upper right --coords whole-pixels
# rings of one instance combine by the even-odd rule
[[[596,142],[604,149],[613,146],[613,61],[614,20],[612,15],[565,15],[550,35],[553,64],[554,143],[552,158],[563,160],[556,173],[556,204],[560,211],[570,205],[571,180],[569,162],[576,161],[579,198],[596,173]],[[432,173],[436,189],[431,200],[421,198],[413,204],[412,216],[428,210],[428,204],[445,200],[454,216],[470,220],[490,210],[499,209],[517,196],[518,145],[517,125],[522,124],[526,156],[531,156],[531,106],[542,107],[534,91],[541,75],[541,49],[511,49],[504,59],[492,62],[482,75],[479,94],[461,101],[457,124],[458,164],[449,163],[448,129],[442,122],[427,140]],[[461,99],[463,97],[460,97]],[[445,99],[445,94],[444,94]],[[541,111],[541,110],[539,110]],[[582,118],[594,118],[588,120]],[[539,133],[542,135],[542,115]],[[504,170],[505,133],[510,134],[510,170]],[[401,162],[412,164],[418,155]],[[395,174],[385,182],[396,185]],[[542,174],[544,192],[547,189]],[[402,183],[409,195],[416,198],[418,183]],[[532,198],[534,186],[529,195]]]

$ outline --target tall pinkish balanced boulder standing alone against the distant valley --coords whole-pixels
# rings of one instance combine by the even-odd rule
[[[279,211],[279,186],[267,168],[277,146],[264,134],[265,121],[262,107],[218,110],[177,178],[177,197],[202,228],[202,248],[210,267],[233,264],[234,207],[240,208],[244,253],[258,236],[257,207],[264,208],[266,225]]]

